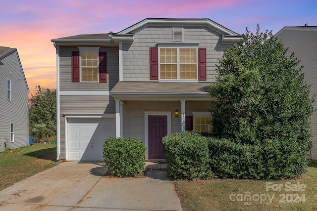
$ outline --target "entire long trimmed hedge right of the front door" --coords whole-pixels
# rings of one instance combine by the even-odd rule
[[[163,138],[171,177],[275,180],[298,177],[307,169],[307,147],[294,141],[266,139],[251,145],[203,135],[187,131]]]

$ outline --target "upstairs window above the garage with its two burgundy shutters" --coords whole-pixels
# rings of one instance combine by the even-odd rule
[[[106,83],[106,52],[99,47],[78,47],[72,51],[72,82]]]

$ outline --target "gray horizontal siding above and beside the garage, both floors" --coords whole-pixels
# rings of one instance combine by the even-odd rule
[[[60,91],[110,91],[119,81],[118,47],[101,47],[107,54],[107,83],[72,83],[71,52],[78,47],[59,48]],[[60,158],[65,158],[65,114],[114,114],[115,102],[111,96],[60,96]]]

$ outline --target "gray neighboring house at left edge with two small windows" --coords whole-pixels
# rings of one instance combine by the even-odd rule
[[[0,152],[28,145],[28,94],[17,50],[0,47]]]

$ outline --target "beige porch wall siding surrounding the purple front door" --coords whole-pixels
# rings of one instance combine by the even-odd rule
[[[186,115],[193,111],[208,112],[210,101],[186,101]],[[145,111],[165,111],[171,113],[171,132],[181,131],[181,117],[174,116],[174,111],[181,111],[180,101],[125,101],[123,105],[123,137],[135,137],[144,142]]]

